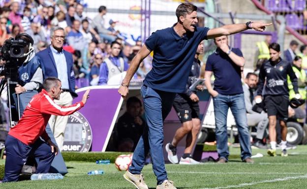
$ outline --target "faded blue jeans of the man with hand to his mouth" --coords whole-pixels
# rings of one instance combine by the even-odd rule
[[[218,157],[224,158],[228,161],[229,151],[227,145],[227,113],[228,108],[230,108],[233,116],[235,117],[236,125],[239,131],[241,159],[245,160],[246,158],[250,158],[250,135],[247,126],[244,94],[218,94],[213,98],[213,105],[215,110],[215,137]]]

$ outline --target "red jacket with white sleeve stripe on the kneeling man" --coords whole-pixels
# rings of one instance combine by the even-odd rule
[[[8,135],[14,136],[27,145],[33,144],[41,136],[49,139],[46,133],[48,120],[53,115],[70,115],[84,106],[83,102],[68,107],[57,105],[44,89],[33,96],[18,124]]]

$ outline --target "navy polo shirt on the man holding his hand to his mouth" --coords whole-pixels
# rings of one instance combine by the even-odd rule
[[[240,49],[231,51],[243,57]],[[212,71],[215,76],[214,90],[222,95],[235,95],[243,93],[240,66],[235,64],[224,52],[216,50],[210,54],[206,63],[206,71]]]

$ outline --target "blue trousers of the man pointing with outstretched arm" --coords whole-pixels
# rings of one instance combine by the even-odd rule
[[[172,108],[175,94],[156,90],[146,85],[141,87],[147,126],[134,150],[129,172],[140,174],[145,158],[150,152],[158,185],[167,180],[163,158],[163,121]]]

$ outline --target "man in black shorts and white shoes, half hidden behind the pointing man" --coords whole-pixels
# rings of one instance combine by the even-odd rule
[[[200,130],[199,119],[199,98],[196,95],[196,89],[189,89],[189,87],[195,83],[199,78],[200,73],[200,61],[198,55],[204,52],[204,43],[201,42],[194,57],[194,61],[190,70],[190,74],[185,85],[184,93],[177,93],[173,107],[175,108],[177,115],[183,124],[180,127],[173,138],[171,143],[166,144],[165,149],[168,153],[168,160],[172,163],[178,163],[178,157],[176,155],[176,146],[179,141],[186,135],[186,144],[184,149],[184,155],[180,159],[179,164],[199,164],[192,159],[191,152],[196,142],[197,135]],[[203,85],[198,85],[197,89],[202,90]]]

